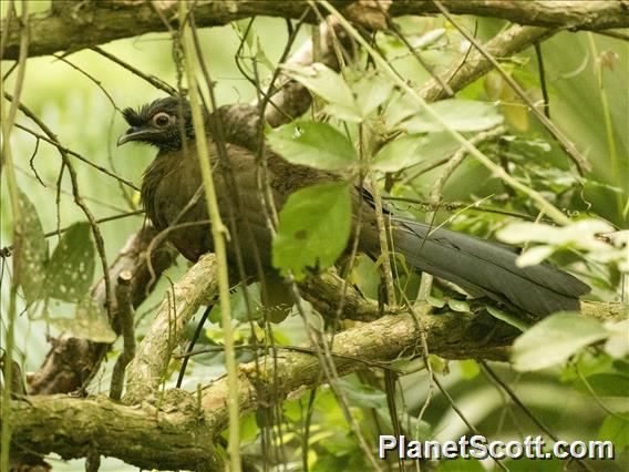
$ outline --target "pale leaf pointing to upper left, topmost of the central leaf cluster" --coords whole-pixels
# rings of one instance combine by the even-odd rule
[[[362,121],[353,93],[341,74],[318,62],[310,65],[283,65],[282,70],[286,75],[330,103],[343,115],[340,117]]]

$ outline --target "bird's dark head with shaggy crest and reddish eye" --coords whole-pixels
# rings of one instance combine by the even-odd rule
[[[125,109],[122,114],[130,129],[120,136],[118,146],[135,141],[176,151],[182,147],[182,132],[188,141],[195,137],[190,105],[185,99],[158,99],[137,110]]]

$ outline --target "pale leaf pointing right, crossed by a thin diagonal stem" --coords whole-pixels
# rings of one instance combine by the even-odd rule
[[[477,132],[497,126],[504,121],[493,103],[473,100],[443,100],[433,103],[432,109],[453,130]],[[419,110],[405,125],[411,133],[444,131],[443,126],[430,119],[424,110]]]

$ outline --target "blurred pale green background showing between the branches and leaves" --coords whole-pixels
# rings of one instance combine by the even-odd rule
[[[45,1],[31,2],[31,10],[44,11],[48,7],[49,2]],[[2,13],[4,12],[6,3],[2,6]],[[471,19],[466,21],[473,24]],[[409,34],[417,37],[424,31],[441,27],[441,21],[435,19],[401,19],[400,23]],[[503,24],[501,21],[481,20],[478,35],[488,37],[498,31]],[[235,63],[235,54],[240,42],[238,31],[233,25],[227,25],[204,29],[200,34],[210,74],[217,81],[216,94],[219,103],[251,102],[255,99],[255,89],[243,78]],[[275,65],[288,37],[285,21],[258,18],[255,22],[255,34],[259,38],[260,49]],[[309,27],[303,28],[293,49],[298,48],[308,34]],[[437,70],[444,70],[451,60],[462,57],[467,48],[465,41],[451,28],[445,29],[445,34],[448,38],[445,45],[429,48],[424,51],[425,59]],[[555,179],[557,182],[553,183],[564,183],[573,188],[570,198],[561,201],[566,204],[566,209],[598,215],[618,227],[626,227],[629,213],[627,199],[629,189],[629,127],[627,121],[629,47],[627,44],[627,42],[588,32],[563,32],[543,43],[553,121],[588,157],[594,170],[586,176],[579,176],[574,165],[555,144],[551,145],[549,153],[543,155],[547,162],[536,163],[540,168],[553,163],[554,166],[563,170],[561,173],[549,173],[545,178]],[[102,47],[143,72],[176,85],[171,45],[168,34],[155,33],[114,41]],[[390,44],[388,52],[392,54],[391,63],[405,76],[412,78],[417,84],[427,79],[426,72],[417,65],[414,58],[404,53],[399,45]],[[95,78],[118,109],[138,106],[163,95],[162,92],[96,52],[80,51],[69,54],[66,59]],[[528,50],[518,54],[518,61],[523,65],[513,66],[514,76],[530,90],[535,100],[539,99],[535,54]],[[2,73],[10,65],[9,62],[2,62]],[[264,79],[268,80],[271,71],[261,66],[261,72]],[[488,80],[494,79],[491,76],[491,79],[477,81],[463,91],[461,96],[489,101],[503,100],[507,123],[515,134],[522,133],[530,140],[539,137],[551,141],[522,103],[509,103],[505,101],[504,95],[495,94],[495,83],[487,83]],[[11,91],[12,85],[13,75],[6,84],[7,90]],[[63,145],[140,184],[143,170],[153,158],[155,151],[141,146],[116,147],[115,142],[117,136],[124,132],[125,123],[110,98],[81,72],[52,57],[29,59],[22,102],[48,124]],[[7,103],[3,101],[2,105],[7,106]],[[21,113],[18,114],[17,122],[37,130],[37,126]],[[56,227],[58,211],[54,201],[60,156],[54,147],[43,142],[39,144],[38,152],[33,156],[35,140],[20,130],[13,130],[11,146],[18,170],[19,186],[35,204],[44,230],[53,230]],[[34,177],[30,165],[37,170],[44,185]],[[95,172],[76,160],[74,160],[74,165],[79,173],[81,192],[96,217],[127,212],[137,205],[137,195],[128,193],[125,196],[118,184],[111,177]],[[403,193],[411,196],[416,193],[417,196],[422,196],[421,193],[425,186],[434,179],[435,172],[414,181]],[[559,182],[560,179],[563,181]],[[471,196],[482,197],[494,193],[496,188],[502,188],[501,185],[484,167],[467,160],[448,183],[445,197],[472,201]],[[12,243],[11,212],[4,181],[2,181],[0,192],[0,246],[4,247]],[[545,192],[553,192],[550,185],[545,188]],[[62,227],[84,219],[83,214],[73,203],[68,174],[63,179],[59,215]],[[128,236],[137,230],[142,223],[142,216],[134,216],[101,225],[110,260],[115,257]],[[56,244],[54,237],[49,240],[51,247]],[[6,270],[10,267],[7,263],[9,260],[3,261]],[[177,280],[186,268],[187,263],[179,260],[179,264],[171,268],[167,275],[171,279]],[[97,268],[97,274],[100,274],[100,268]],[[3,314],[7,312],[8,280],[6,275],[1,288]],[[162,284],[163,287],[167,284],[165,278]],[[138,316],[154,307],[161,299],[162,293],[163,290],[158,288],[138,310]],[[144,317],[144,326],[149,321],[151,315]],[[292,343],[303,339],[300,322],[296,317],[289,318],[280,328],[280,331]],[[17,324],[17,346],[22,356],[18,360],[22,363],[24,371],[35,370],[43,360],[49,349],[45,341],[47,332],[49,332],[49,327],[44,322],[30,321],[25,314],[20,316]],[[54,329],[52,334],[55,334]],[[187,386],[194,388],[197,381],[206,383],[223,371],[220,357],[209,357],[206,360],[206,362],[193,362],[192,373],[186,379]],[[107,362],[106,369],[111,368],[111,361]],[[445,382],[473,422],[485,430],[502,432],[505,437],[520,431],[522,418],[516,418],[513,411],[509,413],[499,411],[501,407],[504,407],[504,399],[497,396],[496,390],[488,386],[482,376],[466,377],[466,368],[468,366],[452,363]],[[501,369],[505,374],[509,374],[508,369]],[[101,391],[109,387],[107,370],[103,372],[94,382],[92,391]],[[512,373],[511,376],[518,383],[518,393],[522,398],[538,411],[559,435],[566,439],[596,435],[596,428],[600,424],[604,412],[588,408],[591,400],[587,394],[557,384],[554,381],[556,374],[557,371],[526,376]],[[355,380],[352,378],[352,381]],[[403,384],[409,410],[416,413],[427,394],[426,378],[423,373],[412,374],[404,378]],[[327,401],[323,394],[321,408],[333,408]],[[360,398],[357,403],[360,406]],[[287,407],[287,409],[290,408],[292,407]],[[338,410],[334,411],[338,413]],[[578,420],[571,418],[574,411],[580,412]],[[505,420],[505,414],[511,415],[511,422]],[[433,430],[441,431],[443,438],[450,438],[462,431],[460,421],[453,415],[454,412],[450,410],[446,401],[437,396],[425,420],[432,424]],[[336,417],[327,418],[330,431],[347,434],[347,424],[342,425],[341,420],[334,422],[331,418]],[[525,425],[524,430],[528,427],[528,424]],[[547,465],[548,469],[537,470],[558,470],[556,463]],[[55,464],[58,470],[63,470],[64,466],[68,470],[82,470],[82,465],[75,461],[65,465]],[[472,468],[471,464],[466,466]],[[546,468],[546,465],[543,466]],[[127,468],[117,461],[107,460],[103,462],[102,470],[127,470]],[[517,470],[517,468],[512,470]]]

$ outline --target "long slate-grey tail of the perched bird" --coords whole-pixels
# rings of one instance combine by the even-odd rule
[[[547,264],[518,267],[517,253],[504,245],[422,223],[395,220],[392,244],[409,265],[536,316],[579,310],[579,296],[590,290]]]

